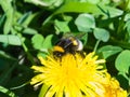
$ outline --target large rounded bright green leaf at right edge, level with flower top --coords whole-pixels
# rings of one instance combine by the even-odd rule
[[[130,51],[122,51],[116,58],[115,61],[116,69],[120,72],[129,72],[130,68]]]

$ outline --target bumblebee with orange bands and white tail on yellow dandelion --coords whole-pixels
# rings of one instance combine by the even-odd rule
[[[67,53],[75,54],[83,50],[82,42],[73,36],[62,38],[53,47],[53,55],[61,57]]]

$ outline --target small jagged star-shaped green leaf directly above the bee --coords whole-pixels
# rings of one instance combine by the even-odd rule
[[[70,31],[68,27],[68,22],[61,22],[61,20],[55,19],[54,26],[57,32],[69,32]]]

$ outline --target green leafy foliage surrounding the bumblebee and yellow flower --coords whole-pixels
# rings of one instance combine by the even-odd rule
[[[0,0],[0,97],[37,97],[30,67],[67,32],[129,92],[130,0]]]

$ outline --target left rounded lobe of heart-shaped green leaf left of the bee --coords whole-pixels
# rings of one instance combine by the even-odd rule
[[[42,34],[35,34],[32,38],[31,38],[31,43],[32,43],[32,46],[36,48],[36,50],[40,50],[42,47],[42,44],[43,44],[43,41],[44,41],[44,38],[42,37]]]

